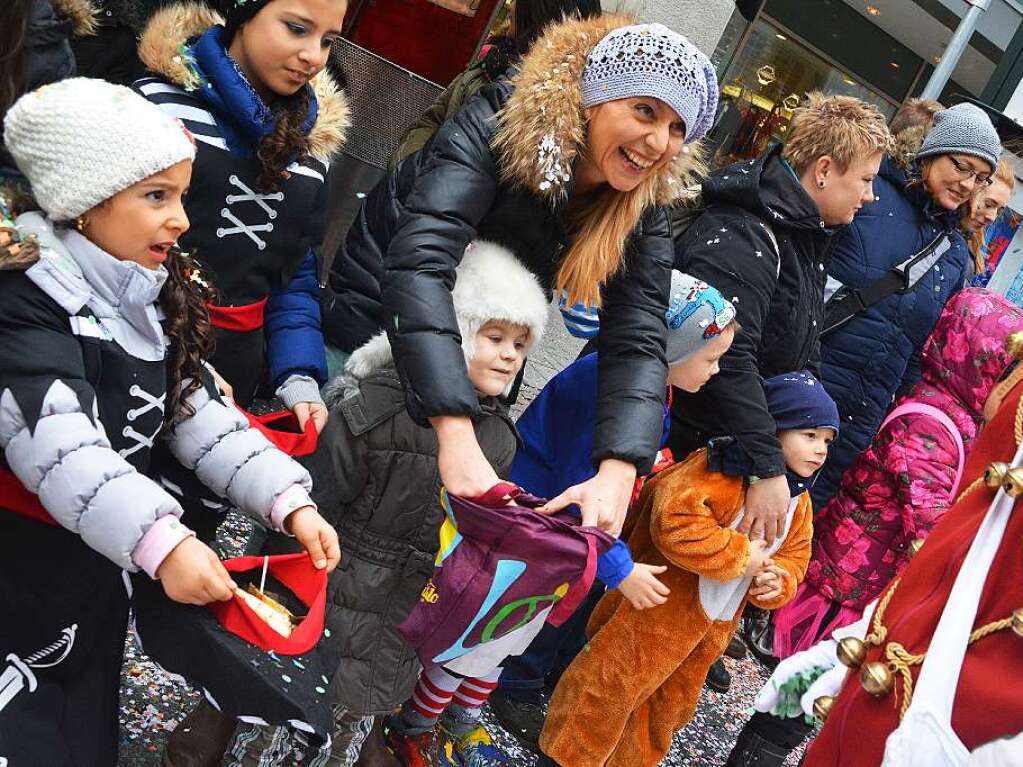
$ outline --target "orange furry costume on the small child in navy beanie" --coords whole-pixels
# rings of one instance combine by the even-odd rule
[[[559,682],[540,735],[543,752],[560,765],[652,767],[667,754],[672,734],[693,717],[707,671],[751,599],[748,586],[741,584],[741,598],[726,602],[722,620],[711,620],[707,592],[701,595],[701,576],[706,589],[708,579],[731,581],[746,571],[749,539],[729,527],[745,500],[745,481],[711,471],[706,450],[643,488],[629,548],[636,561],[668,566],[660,579],[671,595],[646,611],[633,608],[617,590],[597,604],[589,620],[589,644]],[[758,607],[781,607],[806,572],[810,499],[803,493],[793,500],[788,533],[772,554],[787,573],[782,595],[751,599]],[[733,612],[732,603],[738,604]]]

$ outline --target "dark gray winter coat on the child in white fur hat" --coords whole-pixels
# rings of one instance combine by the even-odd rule
[[[434,571],[443,521],[434,430],[405,409],[393,367],[348,378],[305,461],[313,497],[338,529],[341,563],[331,574],[326,626],[342,646],[331,694],[357,714],[384,714],[412,692],[419,664],[397,631]],[[476,437],[500,477],[518,444],[495,399],[481,400]]]

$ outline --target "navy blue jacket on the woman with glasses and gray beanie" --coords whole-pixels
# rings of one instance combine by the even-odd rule
[[[920,379],[920,351],[966,275],[969,253],[957,230],[958,213],[937,207],[919,184],[906,188],[908,182],[906,172],[885,157],[874,182],[875,201],[838,235],[829,276],[865,287],[940,231],[951,233],[951,247],[914,289],[889,296],[821,340],[821,377],[838,404],[842,432],[813,486],[815,508],[834,495],[842,473],[871,444],[896,393]]]

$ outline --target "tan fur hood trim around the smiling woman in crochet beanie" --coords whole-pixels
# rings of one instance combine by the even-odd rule
[[[511,78],[515,92],[497,115],[493,146],[505,180],[552,202],[568,195],[572,168],[586,142],[586,57],[612,30],[634,24],[632,16],[608,13],[552,25],[537,40]],[[670,205],[706,170],[696,141],[630,193],[642,195],[643,207]]]

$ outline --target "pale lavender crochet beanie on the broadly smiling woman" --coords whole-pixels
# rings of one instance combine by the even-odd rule
[[[685,143],[707,135],[717,110],[717,75],[693,43],[662,24],[608,33],[586,57],[583,106],[620,98],[659,98],[685,124]]]

